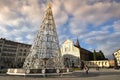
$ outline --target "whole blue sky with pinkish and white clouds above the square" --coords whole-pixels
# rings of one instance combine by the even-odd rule
[[[119,0],[0,0],[0,38],[32,44],[49,1],[60,45],[78,38],[108,58],[120,49]]]

